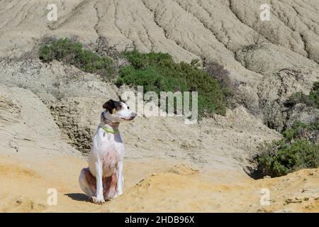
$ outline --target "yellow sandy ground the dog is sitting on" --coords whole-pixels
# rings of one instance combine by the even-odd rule
[[[29,159],[18,153],[0,155],[0,211],[319,212],[318,170],[254,180],[232,170],[126,159],[124,194],[100,206],[79,188],[79,171],[85,166],[84,158],[62,154]],[[47,204],[50,188],[57,189],[56,206]],[[260,205],[263,188],[269,189],[269,206]]]

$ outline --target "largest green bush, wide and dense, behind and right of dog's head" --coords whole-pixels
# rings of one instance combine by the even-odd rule
[[[198,92],[198,115],[225,114],[229,89],[222,87],[205,70],[198,68],[198,61],[191,64],[174,62],[172,56],[162,52],[124,53],[130,65],[118,72],[116,85],[143,86],[144,92]]]

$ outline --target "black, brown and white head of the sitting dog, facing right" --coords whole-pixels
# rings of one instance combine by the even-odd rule
[[[113,101],[112,99],[103,104],[104,116],[114,123],[121,121],[132,121],[136,114],[130,110],[128,104],[123,101]]]

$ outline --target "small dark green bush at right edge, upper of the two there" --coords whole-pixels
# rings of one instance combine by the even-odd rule
[[[285,104],[286,106],[295,106],[300,103],[319,109],[319,82],[313,84],[313,88],[308,95],[296,92],[289,97]]]

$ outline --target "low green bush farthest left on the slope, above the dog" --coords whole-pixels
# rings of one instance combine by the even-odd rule
[[[100,74],[105,78],[113,76],[115,69],[111,58],[100,57],[95,52],[84,50],[82,43],[68,38],[43,45],[39,50],[39,57],[43,62],[58,60],[74,65],[84,72]]]

